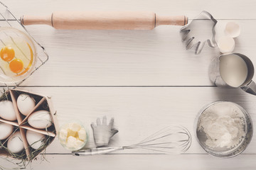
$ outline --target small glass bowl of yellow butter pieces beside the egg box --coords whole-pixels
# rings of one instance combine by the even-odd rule
[[[80,140],[80,134],[75,129],[84,130],[85,140]],[[76,151],[82,149],[82,147],[85,147],[88,138],[89,136],[87,130],[85,129],[84,125],[82,125],[82,123],[78,120],[73,120],[65,123],[60,127],[60,130],[58,132],[58,140],[60,142],[60,145],[70,151]]]

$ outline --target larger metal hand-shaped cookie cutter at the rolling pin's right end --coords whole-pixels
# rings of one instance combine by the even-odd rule
[[[191,23],[181,28],[182,42],[186,45],[186,50],[195,49],[198,55],[208,42],[209,47],[216,47],[215,25],[217,20],[207,11],[202,11]]]

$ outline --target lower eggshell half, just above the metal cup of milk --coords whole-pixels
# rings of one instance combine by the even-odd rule
[[[228,36],[223,36],[218,40],[218,48],[222,53],[233,52],[235,49],[235,40]]]

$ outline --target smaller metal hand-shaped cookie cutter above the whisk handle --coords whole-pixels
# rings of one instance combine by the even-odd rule
[[[95,140],[95,145],[97,147],[106,147],[109,145],[110,138],[113,137],[118,130],[113,129],[114,118],[110,120],[110,123],[107,125],[107,117],[104,116],[102,123],[100,118],[97,118],[97,125],[95,123],[91,124],[93,138]]]

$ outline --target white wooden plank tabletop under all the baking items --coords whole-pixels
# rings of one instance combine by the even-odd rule
[[[53,11],[154,11],[162,15],[186,15],[203,10],[218,19],[223,34],[228,21],[240,23],[235,52],[256,63],[255,0],[3,0],[19,18]],[[212,157],[196,141],[193,123],[198,111],[218,100],[244,107],[256,123],[256,96],[240,89],[220,89],[208,79],[208,65],[218,52],[206,47],[201,55],[184,49],[178,26],[155,30],[55,30],[27,26],[46,47],[50,60],[19,88],[52,96],[60,125],[79,119],[90,130],[97,117],[114,117],[119,130],[112,146],[130,145],[154,131],[180,124],[193,142],[181,155],[128,150],[95,157],[73,157],[58,139],[47,148],[46,159],[33,169],[255,169],[256,139],[238,157]],[[217,35],[217,38],[218,38]],[[255,80],[255,79],[254,79]],[[254,129],[255,130],[255,129]],[[92,131],[87,145],[92,147]],[[2,166],[8,163],[0,159]],[[28,166],[28,169],[30,166]]]

